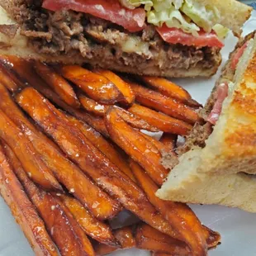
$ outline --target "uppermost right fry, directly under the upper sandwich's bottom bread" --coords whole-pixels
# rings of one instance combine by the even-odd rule
[[[201,107],[201,104],[192,99],[189,92],[168,79],[145,76],[142,77],[142,80],[150,87],[162,92],[165,96],[173,97],[190,107]]]

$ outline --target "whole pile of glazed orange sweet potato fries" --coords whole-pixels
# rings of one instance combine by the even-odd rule
[[[220,235],[188,206],[155,196],[168,175],[162,153],[177,158],[199,107],[164,78],[0,56],[0,189],[36,254],[199,256],[216,247]],[[112,230],[123,209],[140,223]]]

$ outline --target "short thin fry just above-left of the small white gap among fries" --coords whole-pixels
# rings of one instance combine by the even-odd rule
[[[139,130],[149,130],[152,132],[157,132],[159,131],[159,129],[157,129],[154,126],[150,126],[149,123],[147,121],[145,121],[144,119],[140,118],[140,116],[135,116],[132,113],[130,113],[129,111],[124,110],[121,107],[116,107],[115,106],[116,111],[118,112],[118,114],[121,116],[121,118],[126,121],[126,123],[128,123],[130,126],[139,129]]]

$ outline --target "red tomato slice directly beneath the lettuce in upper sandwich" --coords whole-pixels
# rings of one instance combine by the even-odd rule
[[[206,33],[199,31],[199,36],[192,36],[192,34],[185,33],[177,28],[169,28],[166,25],[157,28],[160,36],[164,41],[170,44],[182,44],[197,47],[219,47],[222,48],[224,44],[216,36],[215,32]]]

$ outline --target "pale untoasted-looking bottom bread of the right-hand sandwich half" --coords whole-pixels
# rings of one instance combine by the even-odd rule
[[[218,204],[256,212],[255,178],[245,173],[203,173],[198,171],[201,166],[200,148],[183,154],[157,196],[170,201]]]

